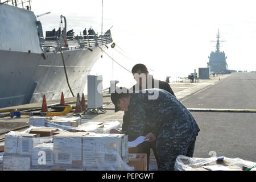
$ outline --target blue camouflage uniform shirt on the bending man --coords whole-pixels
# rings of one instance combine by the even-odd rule
[[[147,125],[156,137],[163,137],[168,129],[168,137],[197,134],[200,129],[191,113],[174,96],[162,89],[146,89],[146,93],[133,93],[130,98],[130,125],[125,134],[129,141],[143,135]],[[152,93],[152,92],[155,93]],[[157,99],[148,99],[158,92]]]

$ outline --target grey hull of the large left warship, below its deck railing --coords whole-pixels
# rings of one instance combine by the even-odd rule
[[[106,49],[105,46],[102,49]],[[87,75],[102,55],[101,48],[63,51],[69,84],[75,94],[84,92]],[[60,52],[45,55],[0,50],[0,107],[72,97]]]

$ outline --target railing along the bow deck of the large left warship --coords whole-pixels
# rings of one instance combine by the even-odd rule
[[[48,36],[48,37],[40,37],[44,39],[44,42],[40,43],[40,46],[46,52],[55,52],[58,50],[59,37],[58,36]],[[77,35],[77,36],[67,36],[68,47],[61,47],[62,50],[73,50],[73,49],[81,49],[88,48],[93,46],[103,46],[105,44],[112,43],[112,37],[110,34],[104,35]]]

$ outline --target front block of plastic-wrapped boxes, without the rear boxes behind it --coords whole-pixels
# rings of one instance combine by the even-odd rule
[[[42,129],[5,135],[3,170],[131,169],[126,164],[127,135],[64,131],[46,134]]]

